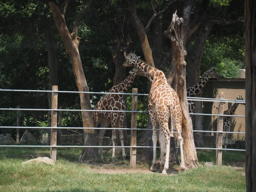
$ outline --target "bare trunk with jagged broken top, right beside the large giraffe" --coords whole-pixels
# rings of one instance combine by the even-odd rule
[[[197,152],[195,149],[192,121],[189,117],[189,107],[186,93],[186,49],[183,46],[183,19],[178,18],[176,13],[172,17],[172,23],[169,27],[169,35],[171,36],[174,56],[176,61],[177,74],[177,93],[180,98],[180,106],[182,109],[182,137],[184,145],[184,162],[186,168],[193,168],[198,166]]]

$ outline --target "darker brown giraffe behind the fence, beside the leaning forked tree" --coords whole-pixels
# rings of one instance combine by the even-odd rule
[[[124,81],[119,84],[114,85],[109,93],[126,93],[127,90],[131,87],[135,77],[137,76],[138,70],[131,70],[129,76],[126,77]],[[94,110],[113,110],[113,111],[125,111],[125,102],[123,101],[123,95],[118,94],[107,94],[105,95],[99,102],[95,105]],[[94,111],[93,112],[93,126],[97,127],[100,122],[100,126],[102,128],[107,128],[109,124],[111,124],[112,128],[122,128],[124,121],[124,112],[101,112]],[[99,146],[102,146],[103,136],[105,135],[106,130],[101,129],[97,139],[99,141]],[[122,130],[119,130],[120,141],[122,145],[122,159],[126,159],[125,148],[124,146],[124,137]],[[116,131],[112,130],[112,142],[113,146],[115,146],[116,141]],[[104,161],[102,148],[99,149],[100,158]],[[115,156],[115,148],[113,148],[112,161],[116,160]]]

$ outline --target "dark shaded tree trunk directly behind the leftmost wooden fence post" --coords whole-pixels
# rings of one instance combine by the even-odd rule
[[[47,47],[47,55],[48,55],[48,67],[49,67],[49,90],[52,90],[52,85],[58,85],[58,59],[55,52],[55,45],[52,38],[52,29],[50,25],[49,18],[44,15],[42,17],[41,27],[44,33],[44,40],[46,42]],[[52,107],[52,93],[48,93],[48,107],[49,109]],[[52,120],[52,112],[48,111],[48,126],[51,126]],[[44,134],[48,134],[48,142],[50,141],[51,130],[44,130]]]

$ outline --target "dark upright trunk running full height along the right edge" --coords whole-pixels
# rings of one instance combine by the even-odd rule
[[[245,0],[246,188],[256,191],[256,0]]]

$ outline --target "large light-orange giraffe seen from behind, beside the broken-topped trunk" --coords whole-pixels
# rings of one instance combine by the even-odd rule
[[[183,138],[181,136],[182,113],[179,96],[169,85],[163,71],[146,64],[135,55],[135,52],[124,52],[125,62],[123,67],[134,66],[140,71],[140,75],[146,76],[151,82],[151,90],[148,93],[148,112],[153,126],[153,162],[150,170],[156,171],[157,150],[157,124],[160,125],[159,141],[161,146],[160,172],[167,174],[169,169],[170,138],[173,137],[173,125],[175,125],[178,142],[180,144],[181,170],[185,169],[183,157]],[[168,122],[171,118],[172,132],[169,131]],[[166,161],[163,158],[163,146],[166,142]]]

